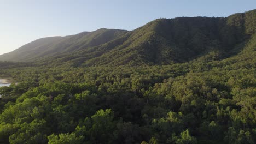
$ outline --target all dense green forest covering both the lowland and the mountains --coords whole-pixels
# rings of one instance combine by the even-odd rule
[[[0,87],[0,143],[256,143],[255,20],[157,19],[1,55],[18,84]]]

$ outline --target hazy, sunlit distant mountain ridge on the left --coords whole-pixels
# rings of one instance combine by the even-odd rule
[[[82,32],[66,37],[42,38],[21,46],[13,52],[1,55],[0,61],[34,61],[42,57],[101,45],[120,37],[126,32],[119,29],[101,28],[94,32]]]

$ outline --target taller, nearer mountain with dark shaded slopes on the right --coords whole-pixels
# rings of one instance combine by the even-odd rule
[[[85,64],[168,64],[220,51],[229,57],[255,33],[255,10],[223,18],[158,19],[131,32],[127,40]],[[237,49],[234,51],[233,49]]]

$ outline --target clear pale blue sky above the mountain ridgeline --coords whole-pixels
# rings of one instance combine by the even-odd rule
[[[132,30],[158,18],[225,17],[255,8],[255,0],[0,0],[0,54],[42,37]]]

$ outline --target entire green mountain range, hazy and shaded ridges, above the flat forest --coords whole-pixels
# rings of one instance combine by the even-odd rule
[[[255,33],[256,10],[228,17],[157,19],[134,31],[98,29],[42,38],[0,56],[0,61],[72,65],[140,65],[188,62],[240,52]]]

